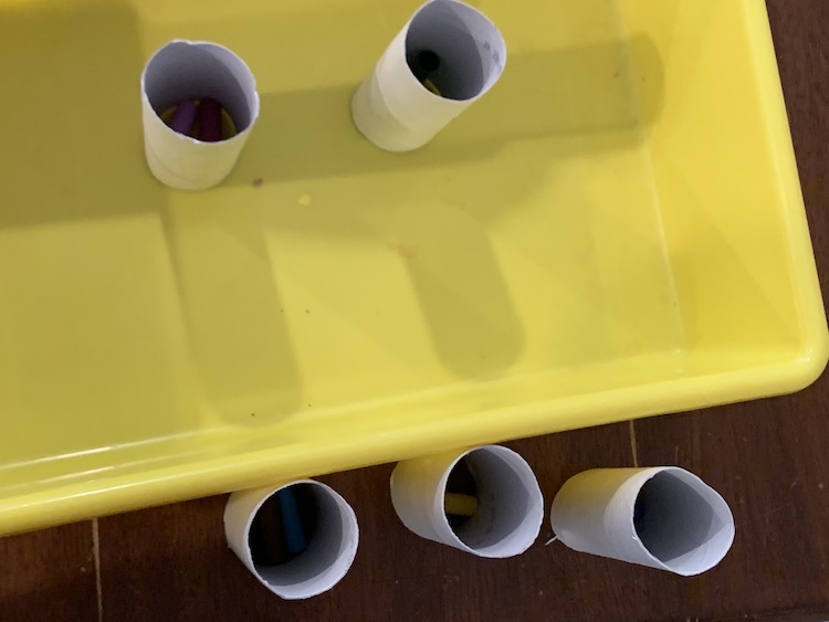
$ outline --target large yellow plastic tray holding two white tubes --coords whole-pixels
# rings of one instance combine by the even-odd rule
[[[419,0],[0,0],[0,533],[799,389],[826,317],[763,0],[481,0],[502,82],[421,151],[349,97]],[[262,114],[186,193],[138,77]]]

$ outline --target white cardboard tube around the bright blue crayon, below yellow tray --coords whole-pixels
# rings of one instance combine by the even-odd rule
[[[288,486],[311,488],[316,505],[316,528],[305,535],[307,548],[304,551],[284,563],[270,565],[256,559],[251,547],[251,528],[265,502]],[[288,525],[292,521],[296,520],[277,520],[286,528],[293,528]],[[279,530],[280,525],[272,527]],[[286,600],[311,598],[336,586],[351,567],[359,540],[351,506],[334,489],[313,479],[233,493],[224,507],[224,535],[248,570]]]

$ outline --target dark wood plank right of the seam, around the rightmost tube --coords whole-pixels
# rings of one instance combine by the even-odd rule
[[[639,460],[700,474],[728,500],[737,525],[714,570],[651,577],[652,619],[829,613],[829,455],[816,439],[827,409],[825,376],[795,397],[636,423]]]

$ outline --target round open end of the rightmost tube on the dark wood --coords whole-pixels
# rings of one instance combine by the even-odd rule
[[[681,574],[718,563],[734,537],[725,500],[701,483],[663,471],[644,483],[636,500],[633,526],[642,545]]]

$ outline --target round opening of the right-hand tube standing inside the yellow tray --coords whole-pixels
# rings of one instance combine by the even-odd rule
[[[504,53],[504,40],[495,24],[453,0],[426,4],[412,18],[406,35],[406,59],[416,77],[422,72],[421,82],[429,80],[433,93],[459,102],[474,99],[497,80]],[[428,65],[423,59],[430,61]]]

